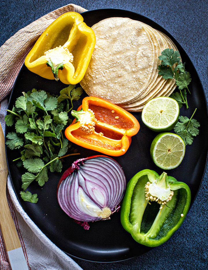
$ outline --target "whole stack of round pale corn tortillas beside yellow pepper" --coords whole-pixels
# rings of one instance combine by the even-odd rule
[[[129,18],[108,18],[92,26],[96,45],[81,86],[128,111],[140,112],[157,96],[169,96],[174,79],[163,79],[158,56],[166,48],[177,50],[165,34]]]

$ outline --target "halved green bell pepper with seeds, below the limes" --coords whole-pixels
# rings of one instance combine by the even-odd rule
[[[187,184],[145,169],[133,176],[121,206],[121,223],[135,241],[148,247],[166,242],[182,225],[189,210]]]

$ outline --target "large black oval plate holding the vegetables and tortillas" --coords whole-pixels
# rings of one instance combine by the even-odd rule
[[[118,9],[101,9],[84,12],[82,16],[90,27],[108,17],[129,17],[147,23],[153,28],[164,32],[177,45],[182,61],[186,63],[186,69],[192,77],[190,84],[192,94],[187,95],[190,108],[188,110],[184,107],[181,108],[180,114],[190,117],[195,108],[197,108],[194,118],[200,122],[201,126],[199,135],[194,138],[192,145],[187,145],[185,157],[181,165],[176,169],[168,171],[168,174],[189,185],[193,202],[200,188],[206,167],[208,116],[203,87],[192,62],[179,43],[166,30],[139,14]],[[59,94],[59,91],[64,87],[66,85],[60,81],[43,79],[23,66],[10,97],[9,109],[12,109],[16,98],[21,96],[23,91],[27,92],[32,88],[36,88]],[[82,97],[84,96],[85,94]],[[75,109],[81,104],[81,100],[82,98],[74,103]],[[142,169],[153,169],[159,174],[162,173],[162,170],[154,165],[149,153],[151,142],[157,134],[144,126],[141,121],[141,113],[133,113],[133,115],[140,123],[140,131],[136,136],[133,136],[127,153],[124,156],[115,158],[123,167],[127,181]],[[11,131],[14,131],[14,127],[6,128],[6,134]],[[63,171],[77,158],[99,154],[79,146],[75,147],[81,153],[81,156],[66,158]],[[18,151],[11,151],[8,148],[6,150],[12,184],[20,204],[40,230],[66,254],[94,262],[116,262],[139,256],[151,249],[135,242],[131,235],[122,228],[120,211],[113,214],[110,220],[91,222],[88,231],[76,224],[73,219],[69,218],[61,210],[56,199],[56,188],[61,173],[49,173],[49,180],[42,188],[37,183],[32,183],[28,190],[38,194],[38,203],[24,202],[20,197],[21,175],[24,172],[16,167],[15,162],[12,162],[12,160],[19,156]]]

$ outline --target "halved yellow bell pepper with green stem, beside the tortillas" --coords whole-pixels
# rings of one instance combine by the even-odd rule
[[[25,58],[31,71],[65,84],[79,83],[95,46],[92,28],[77,12],[66,12],[51,23]]]

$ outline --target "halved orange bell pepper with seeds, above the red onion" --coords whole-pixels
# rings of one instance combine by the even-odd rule
[[[66,138],[110,156],[125,154],[131,144],[131,136],[137,134],[140,128],[132,114],[93,96],[83,98],[82,105],[77,111],[73,110],[72,115],[76,119],[66,128]]]

